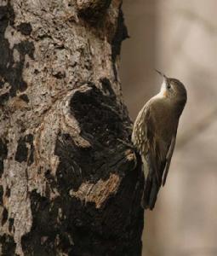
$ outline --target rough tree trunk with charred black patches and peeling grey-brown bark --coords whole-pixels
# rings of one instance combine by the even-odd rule
[[[0,255],[140,255],[127,36],[120,0],[0,0]]]

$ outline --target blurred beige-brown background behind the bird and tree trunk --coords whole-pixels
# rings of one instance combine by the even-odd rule
[[[131,119],[157,93],[153,68],[186,85],[188,102],[153,212],[143,256],[217,255],[217,1],[124,0],[130,38],[121,79]]]

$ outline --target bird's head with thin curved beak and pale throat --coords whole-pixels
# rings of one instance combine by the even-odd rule
[[[156,71],[163,76],[160,95],[168,99],[169,102],[173,103],[177,108],[181,109],[181,113],[187,101],[186,87],[180,80],[168,78],[165,74],[158,70]]]

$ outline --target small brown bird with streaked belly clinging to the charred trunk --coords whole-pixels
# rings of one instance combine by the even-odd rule
[[[163,77],[156,96],[146,102],[134,121],[131,141],[140,154],[144,172],[141,207],[152,210],[157,194],[164,186],[174,153],[180,115],[185,108],[187,91],[178,79]]]

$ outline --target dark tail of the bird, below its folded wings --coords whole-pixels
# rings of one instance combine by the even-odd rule
[[[154,208],[159,188],[159,184],[155,178],[149,176],[146,178],[141,198],[141,207],[150,210]]]

